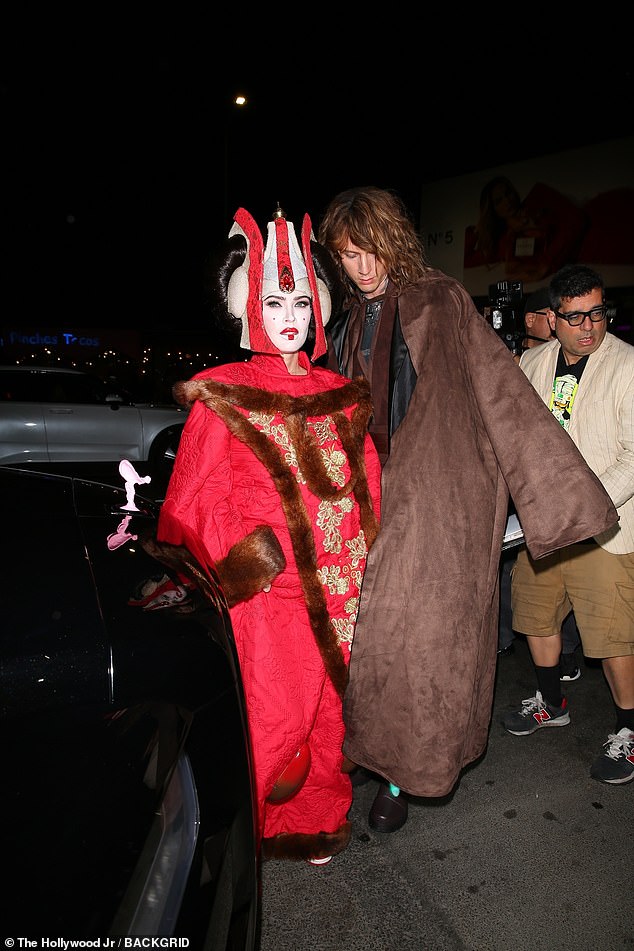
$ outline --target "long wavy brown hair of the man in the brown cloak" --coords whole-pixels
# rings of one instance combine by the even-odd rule
[[[328,205],[319,227],[319,241],[328,248],[350,294],[355,286],[341,263],[348,241],[379,258],[399,290],[430,269],[425,250],[402,200],[392,191],[350,188]]]

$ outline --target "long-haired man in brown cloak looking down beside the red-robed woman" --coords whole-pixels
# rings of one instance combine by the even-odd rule
[[[465,288],[427,262],[398,196],[337,195],[319,239],[348,290],[331,365],[369,381],[383,463],[343,750],[381,779],[370,826],[394,832],[401,790],[445,796],[485,750],[509,491],[535,558],[617,514]]]

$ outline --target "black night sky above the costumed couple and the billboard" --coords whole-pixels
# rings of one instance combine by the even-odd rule
[[[116,9],[7,24],[5,325],[204,331],[240,205],[262,229],[277,202],[316,229],[337,191],[375,184],[422,230],[423,183],[634,131],[622,26],[476,37],[355,10],[364,33],[339,13],[317,32],[312,8],[234,11],[230,28]]]

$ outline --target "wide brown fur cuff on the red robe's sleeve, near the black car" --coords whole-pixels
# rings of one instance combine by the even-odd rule
[[[216,562],[230,608],[259,594],[285,568],[282,546],[269,525],[258,525]]]

